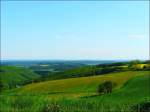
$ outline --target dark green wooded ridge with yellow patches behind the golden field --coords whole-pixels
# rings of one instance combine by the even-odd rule
[[[137,63],[136,61],[116,62],[110,64],[86,65],[56,73],[49,72],[47,80],[88,77],[124,71],[148,71],[148,70],[150,70],[150,65],[144,62],[139,63]]]

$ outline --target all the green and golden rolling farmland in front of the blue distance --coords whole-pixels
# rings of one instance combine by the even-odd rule
[[[0,95],[0,111],[137,112],[141,110],[140,112],[143,112],[144,109],[148,112],[150,104],[148,66],[147,63],[129,62],[85,65],[54,73],[51,78],[47,75],[46,80],[32,69],[2,66],[3,88]],[[17,82],[23,77],[22,74],[30,78],[21,78],[20,82],[29,81],[28,83]],[[20,87],[7,88],[11,81]],[[107,81],[114,85],[112,91],[98,92],[99,85]]]

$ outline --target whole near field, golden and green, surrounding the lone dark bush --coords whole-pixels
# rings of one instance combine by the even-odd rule
[[[32,83],[3,93],[1,111],[137,112],[133,106],[150,101],[149,78],[149,71],[128,71]],[[97,86],[106,80],[116,87],[110,94],[98,95]]]

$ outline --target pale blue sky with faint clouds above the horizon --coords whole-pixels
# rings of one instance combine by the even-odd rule
[[[3,60],[149,57],[148,1],[2,1]]]

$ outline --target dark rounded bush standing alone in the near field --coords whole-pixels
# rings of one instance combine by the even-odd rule
[[[114,85],[115,84],[112,83],[111,81],[106,81],[106,82],[104,82],[104,83],[102,83],[98,86],[97,91],[98,91],[99,94],[111,93]]]

